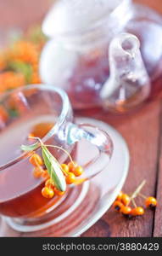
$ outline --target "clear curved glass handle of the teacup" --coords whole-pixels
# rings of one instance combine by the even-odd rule
[[[95,157],[86,166],[85,178],[95,176],[101,172],[108,164],[113,154],[113,142],[107,132],[100,130],[98,127],[88,124],[69,124],[66,141],[73,144],[86,139],[98,148],[98,157]]]

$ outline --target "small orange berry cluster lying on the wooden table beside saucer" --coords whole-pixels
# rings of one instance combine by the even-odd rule
[[[145,199],[146,207],[154,208],[157,206],[157,201],[153,196],[146,197],[140,193],[138,195]],[[133,203],[134,207],[131,207],[131,202]],[[142,216],[144,214],[144,208],[137,207],[134,198],[131,198],[131,196],[124,194],[123,192],[120,192],[120,194],[117,196],[113,207],[115,211],[121,212],[124,216],[129,218]]]

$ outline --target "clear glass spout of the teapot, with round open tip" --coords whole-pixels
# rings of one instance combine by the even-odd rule
[[[121,33],[111,41],[109,72],[100,92],[103,108],[126,112],[148,98],[150,81],[136,36]]]

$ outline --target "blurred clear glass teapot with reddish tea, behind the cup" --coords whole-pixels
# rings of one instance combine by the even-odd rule
[[[59,0],[42,31],[42,82],[66,90],[75,109],[135,108],[161,71],[162,19],[131,0]]]

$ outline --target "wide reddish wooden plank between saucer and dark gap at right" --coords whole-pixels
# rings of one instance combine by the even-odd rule
[[[151,102],[137,113],[126,117],[116,117],[115,119],[106,114],[103,115],[103,113],[93,115],[93,118],[101,119],[115,126],[126,138],[130,148],[131,166],[123,190],[128,194],[131,194],[143,179],[147,180],[147,184],[142,190],[143,194],[155,195],[156,193],[159,115],[160,100]],[[142,204],[143,201],[138,198],[137,205]],[[147,211],[142,218],[127,220],[111,209],[82,236],[152,236],[153,232],[154,211]]]

